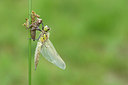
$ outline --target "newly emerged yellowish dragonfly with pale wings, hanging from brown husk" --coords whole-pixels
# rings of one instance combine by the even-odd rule
[[[42,56],[49,62],[64,70],[66,68],[66,64],[57,53],[52,42],[49,40],[49,30],[50,28],[46,25],[44,28],[42,28],[42,32],[40,33],[35,50],[35,70],[39,62],[40,54],[42,54]]]

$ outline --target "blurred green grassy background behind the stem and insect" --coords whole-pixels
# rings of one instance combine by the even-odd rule
[[[40,56],[35,71],[32,42],[32,85],[128,85],[127,0],[32,1],[67,65]],[[0,85],[28,84],[27,17],[27,0],[0,1]]]

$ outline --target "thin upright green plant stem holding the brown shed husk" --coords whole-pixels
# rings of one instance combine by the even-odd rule
[[[32,0],[28,0],[29,4],[29,25],[31,24]],[[28,84],[31,85],[31,32],[28,30]]]

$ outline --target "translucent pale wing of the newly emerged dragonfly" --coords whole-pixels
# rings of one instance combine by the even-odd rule
[[[61,59],[59,54],[56,52],[51,41],[48,39],[41,48],[41,54],[51,63],[55,64],[61,69],[65,69],[66,65],[64,61]]]

